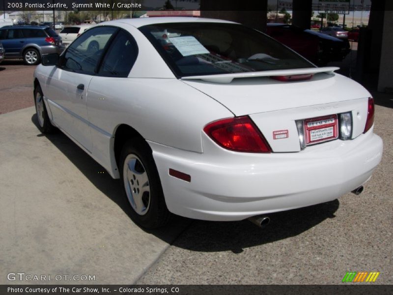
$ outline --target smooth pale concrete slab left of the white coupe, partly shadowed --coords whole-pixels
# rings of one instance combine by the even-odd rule
[[[0,116],[0,284],[132,284],[188,222],[140,229],[119,181],[61,132],[42,135],[34,114]],[[8,281],[10,272],[69,277]]]

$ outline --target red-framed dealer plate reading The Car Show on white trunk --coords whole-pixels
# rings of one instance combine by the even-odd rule
[[[306,143],[312,145],[338,137],[337,115],[306,119]]]

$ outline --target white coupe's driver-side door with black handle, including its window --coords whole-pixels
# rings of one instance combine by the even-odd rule
[[[46,81],[44,95],[54,122],[71,138],[91,150],[90,123],[87,118],[87,89],[97,74],[100,61],[117,28],[97,27],[86,31],[60,57]],[[102,46],[89,50],[86,42],[99,36]]]

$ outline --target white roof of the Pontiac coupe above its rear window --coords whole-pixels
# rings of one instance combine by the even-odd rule
[[[143,17],[143,18],[134,18],[134,19],[120,19],[115,21],[109,21],[100,23],[101,25],[111,25],[118,23],[129,24],[136,28],[140,28],[147,25],[155,25],[155,24],[166,24],[166,23],[226,23],[226,24],[236,24],[234,22],[218,20],[218,19],[209,19],[209,18],[200,18],[200,17]]]

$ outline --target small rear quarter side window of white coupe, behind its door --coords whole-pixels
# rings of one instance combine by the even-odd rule
[[[105,55],[98,74],[103,76],[127,77],[135,60],[138,48],[134,39],[121,30]]]

